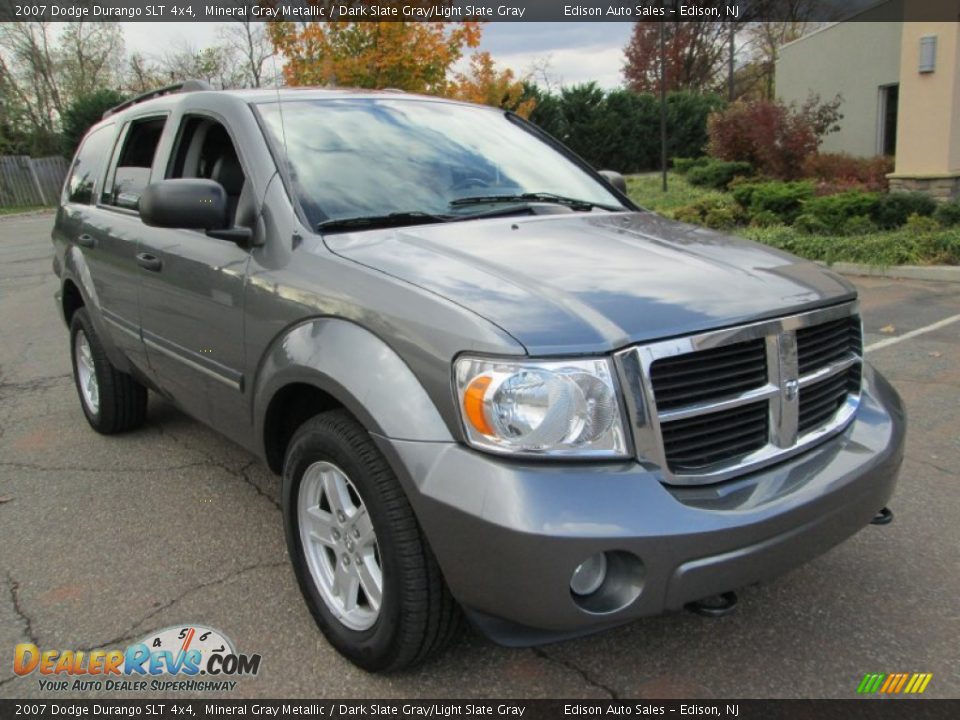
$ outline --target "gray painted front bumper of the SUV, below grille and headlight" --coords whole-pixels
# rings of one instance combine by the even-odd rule
[[[896,392],[865,365],[843,433],[708,486],[667,486],[634,462],[516,462],[378,440],[453,595],[494,640],[525,645],[678,610],[816,557],[887,504],[905,429]],[[569,588],[574,568],[601,551],[642,563],[639,595],[611,612],[588,611]]]

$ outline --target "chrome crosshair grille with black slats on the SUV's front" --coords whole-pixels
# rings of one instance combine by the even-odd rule
[[[859,404],[861,338],[847,303],[620,353],[639,459],[666,482],[717,482],[839,432]]]

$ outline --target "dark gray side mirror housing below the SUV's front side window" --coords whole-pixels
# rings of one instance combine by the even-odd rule
[[[227,191],[213,180],[161,180],[147,185],[139,210],[140,219],[153,227],[224,230]]]

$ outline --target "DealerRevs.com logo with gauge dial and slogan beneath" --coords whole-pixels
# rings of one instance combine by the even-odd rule
[[[46,691],[233,690],[260,671],[260,655],[238,653],[219,630],[177,625],[149,633],[125,650],[41,650],[17,645],[13,671],[37,674]]]

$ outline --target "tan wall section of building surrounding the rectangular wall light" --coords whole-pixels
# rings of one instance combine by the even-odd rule
[[[932,73],[917,71],[920,38],[937,36]],[[903,24],[895,175],[960,172],[960,23]]]

